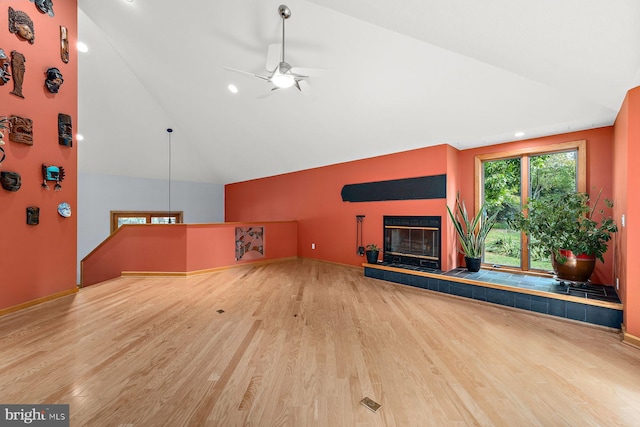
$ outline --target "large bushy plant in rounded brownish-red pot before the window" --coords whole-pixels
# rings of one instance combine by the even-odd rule
[[[598,208],[601,195],[602,189],[593,202],[582,192],[530,199],[527,215],[521,213],[512,221],[551,256],[560,280],[586,283],[596,259],[604,262],[607,242],[618,227],[604,209]],[[605,204],[613,207],[611,200],[605,199]]]

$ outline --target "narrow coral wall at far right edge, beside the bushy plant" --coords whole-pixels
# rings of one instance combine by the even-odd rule
[[[624,305],[625,339],[640,342],[640,87],[630,90],[614,125],[614,215],[620,231],[616,240],[616,275]],[[621,227],[625,215],[625,227]]]

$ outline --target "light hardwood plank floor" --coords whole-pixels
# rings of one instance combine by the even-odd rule
[[[72,426],[638,426],[640,350],[297,260],[0,317],[0,403],[68,403]]]

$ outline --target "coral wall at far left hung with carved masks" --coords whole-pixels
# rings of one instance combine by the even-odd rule
[[[35,43],[30,44],[8,31],[8,7],[26,12],[34,23]],[[74,132],[78,118],[78,58],[70,49],[68,64],[60,57],[60,26],[68,30],[69,45],[77,40],[77,1],[57,1],[55,16],[41,13],[34,3],[4,1],[0,7],[0,48],[10,56],[13,50],[26,58],[24,99],[10,94],[13,79],[0,86],[0,116],[17,115],[33,120],[33,146],[9,141],[7,158],[0,170],[20,173],[17,192],[0,188],[0,309],[20,305],[76,288],[76,218],[63,218],[57,206],[67,202],[75,209],[77,199],[77,147],[58,144],[58,113],[72,117]],[[64,83],[59,93],[44,85],[49,67],[57,67]],[[15,74],[15,73],[13,73]],[[66,177],[62,191],[41,188],[42,164],[63,166]],[[40,208],[40,224],[26,224],[26,208]]]

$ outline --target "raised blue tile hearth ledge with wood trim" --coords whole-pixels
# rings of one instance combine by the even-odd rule
[[[568,286],[553,278],[465,269],[442,272],[402,265],[365,264],[364,275],[506,307],[619,329],[622,304],[611,286]]]

